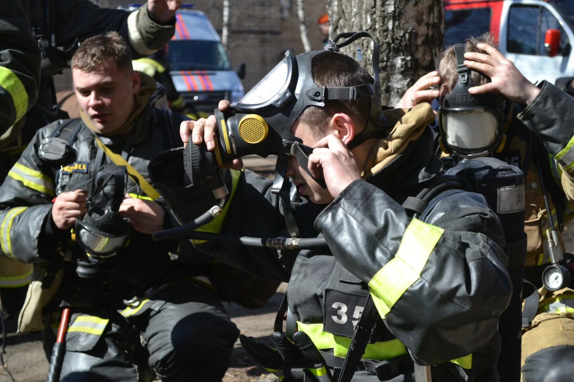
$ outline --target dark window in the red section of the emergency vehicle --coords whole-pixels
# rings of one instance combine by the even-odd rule
[[[444,48],[490,30],[490,8],[445,10]]]

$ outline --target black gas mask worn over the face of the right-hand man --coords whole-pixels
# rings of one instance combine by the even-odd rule
[[[455,44],[458,79],[455,87],[440,96],[440,143],[444,151],[461,158],[483,157],[497,150],[510,102],[502,95],[476,94],[470,69],[463,64],[464,45]]]

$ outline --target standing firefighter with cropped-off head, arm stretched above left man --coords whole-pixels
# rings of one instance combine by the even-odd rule
[[[16,72],[4,72],[3,81],[9,81],[9,86],[3,87],[0,93],[3,98],[9,98],[1,103],[7,110],[0,111],[0,133],[3,134],[0,137],[0,182],[38,128],[67,118],[65,112],[55,107],[52,76],[68,68],[68,61],[80,41],[118,30],[129,41],[134,56],[145,56],[160,49],[173,36],[174,14],[181,4],[181,0],[150,0],[137,11],[128,13],[100,8],[84,0],[9,1],[0,16],[6,20],[1,21],[0,34],[2,41],[9,39],[13,47],[2,51],[3,59],[9,57],[6,60],[9,66],[4,61],[1,65]],[[18,66],[11,68],[11,65]],[[11,73],[17,80],[13,80]],[[0,270],[0,290],[10,288],[3,291],[3,300],[11,310],[9,313],[14,314],[21,305],[21,295],[26,293],[32,268],[29,264],[0,258]]]

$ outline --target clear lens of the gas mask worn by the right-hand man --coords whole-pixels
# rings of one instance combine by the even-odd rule
[[[485,149],[498,136],[498,119],[484,109],[444,111],[443,134],[448,146],[464,151]]]

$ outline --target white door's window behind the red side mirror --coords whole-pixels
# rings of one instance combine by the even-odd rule
[[[509,53],[545,56],[544,37],[546,30],[560,30],[558,54],[567,55],[570,50],[568,36],[556,17],[540,6],[513,5],[508,18],[506,50]]]

